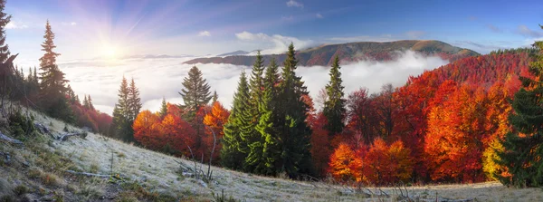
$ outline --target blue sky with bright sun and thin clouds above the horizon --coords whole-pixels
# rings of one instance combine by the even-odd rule
[[[47,19],[60,61],[105,54],[278,53],[322,43],[433,39],[488,53],[543,39],[540,1],[7,0],[7,43],[35,61]]]

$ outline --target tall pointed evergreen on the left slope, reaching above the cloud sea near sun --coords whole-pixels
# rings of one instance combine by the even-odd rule
[[[40,107],[54,118],[73,122],[71,108],[68,106],[66,99],[66,83],[69,82],[64,78],[64,73],[56,65],[56,57],[60,55],[53,51],[56,45],[53,43],[54,34],[52,33],[51,24],[47,21],[45,25],[45,41],[42,44],[42,51],[45,52],[40,58]]]

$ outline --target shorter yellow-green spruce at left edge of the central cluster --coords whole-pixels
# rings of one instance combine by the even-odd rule
[[[249,84],[245,72],[242,72],[238,82],[237,91],[233,94],[233,107],[224,124],[223,148],[221,149],[221,163],[226,168],[240,170],[246,156],[246,145],[241,139],[240,126],[243,124],[243,111],[249,100]]]

